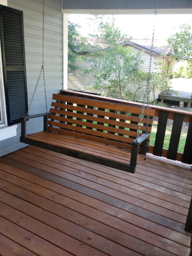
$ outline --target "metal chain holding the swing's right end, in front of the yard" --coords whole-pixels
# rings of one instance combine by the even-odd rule
[[[156,4],[155,4],[155,18],[156,18],[156,14],[157,14],[157,4],[158,4],[158,0],[156,0]],[[143,98],[143,107],[142,107],[142,112],[141,112],[141,118],[140,118],[140,123],[139,123],[139,129],[137,131],[137,139],[139,138],[139,134],[140,134],[140,129],[141,129],[141,123],[142,123],[142,119],[143,119],[143,113],[144,113],[144,109],[145,109],[145,103],[146,103],[146,99],[147,99],[147,120],[146,120],[146,132],[148,129],[148,122],[149,122],[149,85],[150,85],[150,77],[151,77],[151,64],[152,64],[152,54],[153,54],[153,44],[154,44],[154,35],[155,35],[155,19],[154,19],[154,27],[153,27],[153,34],[152,34],[152,44],[151,44],[151,52],[150,52],[150,60],[149,60],[149,73],[148,73],[148,80],[147,80],[147,86],[146,86],[146,92],[145,92],[145,96]]]

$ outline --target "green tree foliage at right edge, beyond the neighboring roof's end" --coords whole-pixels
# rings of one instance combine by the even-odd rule
[[[188,24],[182,24],[180,26],[180,32],[170,36],[167,39],[168,46],[173,47],[175,54],[172,55],[173,58],[178,58],[179,56],[186,57],[188,59],[186,68],[181,66],[177,71],[174,72],[176,78],[192,78],[192,33],[191,26]]]

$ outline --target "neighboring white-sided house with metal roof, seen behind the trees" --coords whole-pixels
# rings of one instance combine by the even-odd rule
[[[95,41],[99,41],[99,39],[91,39],[88,40],[89,45],[94,45]],[[151,39],[128,39],[129,44],[124,44],[125,47],[129,46],[133,48],[133,52],[141,52],[141,58],[143,63],[140,66],[140,70],[143,72],[149,72],[149,61],[150,61],[150,53],[151,53]],[[170,52],[170,51],[169,51]],[[151,64],[151,72],[155,71],[155,62],[161,62],[162,66],[167,66],[167,73],[170,74],[170,78],[173,77],[173,68],[175,64],[175,59],[169,56],[169,52],[163,47],[163,42],[158,39],[154,39],[153,44],[153,53],[152,53],[152,64]],[[88,68],[90,67],[90,63],[85,62],[76,62],[75,63],[80,68]],[[160,71],[161,72],[161,71]],[[91,76],[91,74],[83,74],[80,70],[75,70],[73,72],[68,72],[68,89],[82,91],[82,92],[90,92],[87,87],[91,86],[95,83],[96,79]],[[134,90],[132,85],[128,85],[129,89]],[[92,93],[100,93],[99,91],[91,91]],[[158,98],[158,95],[161,91],[155,91],[155,98]],[[151,99],[154,95],[151,94]],[[142,100],[142,99],[141,99]]]

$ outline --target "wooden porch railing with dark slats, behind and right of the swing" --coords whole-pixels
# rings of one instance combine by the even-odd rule
[[[95,100],[100,99],[103,101],[110,101],[121,104],[125,103],[126,105],[136,105],[142,107],[142,104],[138,102],[124,101],[115,98],[106,98],[103,96],[83,92],[62,90],[61,93],[68,95],[76,95],[78,97],[94,98]],[[182,163],[192,164],[192,112],[176,110],[172,108],[164,108],[154,105],[149,105],[149,107],[155,109],[155,117],[158,117],[158,125],[155,136],[155,145],[149,145],[148,152],[156,156],[163,156],[168,159],[181,161]],[[173,120],[173,126],[170,136],[169,148],[164,149],[163,145],[168,119]],[[189,123],[189,126],[184,146],[184,152],[180,153],[178,152],[178,146],[183,122]]]

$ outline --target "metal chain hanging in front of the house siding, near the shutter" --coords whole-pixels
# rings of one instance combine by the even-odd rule
[[[33,95],[32,95],[32,98],[31,98],[31,101],[29,103],[29,108],[27,110],[27,113],[26,113],[26,116],[29,115],[29,109],[31,108],[31,104],[32,104],[32,101],[33,101],[33,98],[35,96],[35,92],[36,92],[36,89],[38,87],[38,83],[39,83],[39,80],[41,78],[41,73],[43,71],[43,81],[44,81],[44,94],[45,94],[45,105],[46,105],[46,113],[48,112],[47,110],[47,98],[46,98],[46,85],[45,85],[45,73],[44,73],[44,11],[45,11],[45,0],[43,0],[43,28],[42,28],[42,66],[41,66],[41,71],[39,73],[39,76],[38,76],[38,80],[37,80],[37,83],[36,83],[36,86],[35,86],[35,90],[33,92]]]

